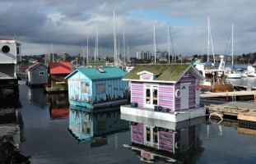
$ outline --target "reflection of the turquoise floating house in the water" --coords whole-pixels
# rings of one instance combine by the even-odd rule
[[[107,137],[129,130],[129,122],[120,119],[120,108],[112,107],[91,111],[85,107],[70,106],[68,134],[77,144],[90,143],[91,147],[107,144]]]

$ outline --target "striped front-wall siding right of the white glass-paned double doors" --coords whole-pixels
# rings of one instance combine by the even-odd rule
[[[159,105],[174,110],[174,84],[159,84]]]

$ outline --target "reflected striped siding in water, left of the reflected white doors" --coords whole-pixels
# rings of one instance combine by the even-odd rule
[[[144,144],[144,125],[131,125],[132,143]]]

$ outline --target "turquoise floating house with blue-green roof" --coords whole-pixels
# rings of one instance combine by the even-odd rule
[[[126,72],[116,66],[77,68],[67,75],[69,103],[86,108],[113,107],[128,102]]]

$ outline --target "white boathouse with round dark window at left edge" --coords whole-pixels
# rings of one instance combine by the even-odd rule
[[[0,88],[18,93],[17,64],[21,62],[21,43],[16,39],[0,39],[0,58]]]

